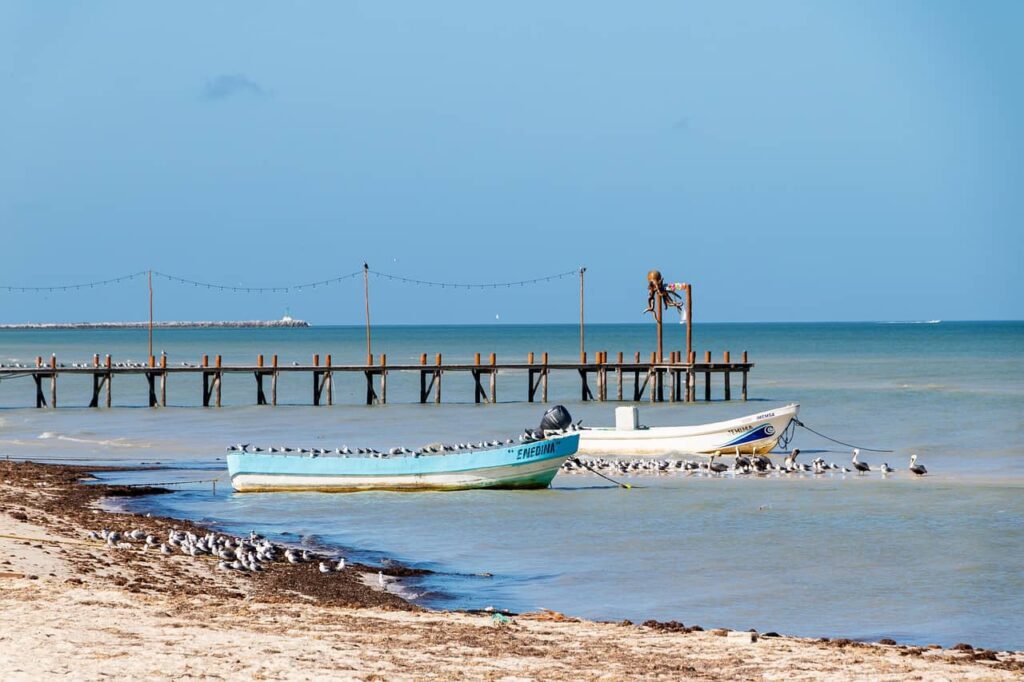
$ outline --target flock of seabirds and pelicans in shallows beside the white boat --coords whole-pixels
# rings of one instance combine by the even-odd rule
[[[800,450],[790,453],[781,464],[775,464],[770,458],[764,455],[736,455],[731,465],[717,461],[722,454],[716,452],[708,458],[706,462],[692,460],[658,460],[653,458],[569,458],[562,465],[565,473],[585,473],[588,469],[609,471],[620,474],[659,474],[683,472],[689,475],[725,476],[742,474],[847,474],[856,472],[865,474],[870,471],[879,471],[883,475],[893,473],[895,469],[889,466],[888,462],[883,462],[882,466],[874,469],[867,462],[860,460],[860,451],[854,450],[850,460],[850,466],[825,462],[822,458],[814,458],[811,462],[797,462]],[[731,456],[730,456],[731,457]],[[918,456],[910,456],[910,464],[907,466],[914,476],[924,476],[928,469],[923,464],[918,464]]]

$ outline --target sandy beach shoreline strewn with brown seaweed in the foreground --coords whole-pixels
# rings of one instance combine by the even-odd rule
[[[705,632],[678,623],[595,623],[552,611],[433,611],[367,585],[368,572],[410,574],[399,565],[352,565],[325,577],[315,562],[275,562],[265,572],[241,576],[186,555],[90,542],[87,531],[99,527],[141,527],[154,535],[172,527],[208,530],[187,520],[97,507],[106,498],[166,488],[81,482],[90,471],[131,468],[0,462],[0,664],[14,678],[62,669],[87,678],[211,674],[198,663],[204,656],[230,659],[218,674],[286,678],[340,672],[352,678],[1014,679],[1024,672],[1022,652],[966,645]],[[77,648],[53,646],[46,628],[54,623],[62,624],[59,636],[78,642]],[[168,638],[173,646],[164,645]],[[207,647],[210,638],[227,652]],[[324,649],[325,642],[344,644]],[[79,653],[83,647],[87,654]],[[127,658],[126,647],[132,651]],[[230,647],[241,647],[233,658]],[[249,647],[264,653],[249,658]]]

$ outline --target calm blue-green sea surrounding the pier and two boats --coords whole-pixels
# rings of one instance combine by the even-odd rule
[[[681,348],[682,328],[667,330]],[[587,349],[649,355],[651,325],[590,325]],[[418,402],[415,375],[392,375],[387,406],[361,404],[361,375],[338,375],[333,407],[311,407],[308,375],[283,375],[276,408],[256,407],[253,377],[224,378],[220,409],[203,409],[201,379],[172,375],[168,401],[148,409],[141,376],[115,377],[115,408],[89,409],[91,380],[61,376],[60,409],[37,410],[29,378],[0,381],[0,457],[70,463],[160,463],[104,473],[128,482],[195,481],[128,508],[255,529],[351,560],[430,569],[407,582],[434,608],[549,608],[602,621],[676,620],[809,637],[901,643],[969,642],[1024,649],[1024,323],[706,324],[694,349],[749,351],[750,400],[641,402],[644,424],[698,424],[799,402],[791,446],[848,464],[853,445],[883,476],[625,478],[559,474],[534,492],[234,494],[225,446],[417,446],[507,437],[548,406],[525,401],[526,377],[502,373],[498,403],[474,404],[468,375],[445,376],[441,404]],[[282,365],[362,361],[358,327],[158,330],[170,365],[206,353],[225,364],[276,353]],[[573,326],[380,327],[388,363],[421,353],[470,361],[474,352],[573,360]],[[0,363],[55,353],[142,361],[144,330],[3,331]],[[630,394],[632,377],[627,381]],[[735,390],[733,396],[738,395]],[[48,388],[48,386],[47,386]],[[47,391],[48,392],[48,391]],[[613,394],[614,387],[611,391]],[[702,397],[702,378],[697,395]],[[580,400],[579,378],[553,375],[550,401],[584,424],[613,422],[615,402]],[[891,451],[891,452],[874,452]],[[928,467],[907,472],[910,454]]]

